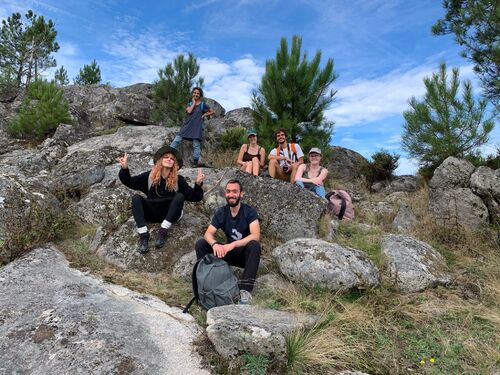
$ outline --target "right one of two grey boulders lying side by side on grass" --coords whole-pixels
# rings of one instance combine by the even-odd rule
[[[382,241],[385,277],[403,293],[451,282],[445,259],[429,244],[406,235],[389,234]]]

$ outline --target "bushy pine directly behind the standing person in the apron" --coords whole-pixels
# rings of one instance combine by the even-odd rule
[[[153,116],[167,126],[179,126],[186,117],[186,105],[194,86],[203,87],[203,78],[194,80],[200,71],[196,57],[177,55],[173,62],[158,71],[159,79],[153,84]],[[202,99],[203,100],[203,99]]]

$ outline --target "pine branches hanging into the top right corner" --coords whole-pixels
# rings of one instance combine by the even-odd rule
[[[486,97],[500,101],[500,5],[498,0],[444,0],[446,14],[435,35],[455,34],[462,56],[475,64]]]

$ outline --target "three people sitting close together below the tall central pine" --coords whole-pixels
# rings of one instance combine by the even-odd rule
[[[326,191],[324,182],[328,169],[320,165],[321,150],[313,147],[309,150],[309,163],[304,163],[304,153],[297,143],[287,140],[285,129],[274,133],[278,146],[268,155],[269,176],[283,181],[295,183],[301,188],[311,190],[324,198]],[[238,154],[237,163],[244,172],[259,176],[265,166],[266,151],[257,143],[255,130],[248,131],[248,143],[243,144]]]

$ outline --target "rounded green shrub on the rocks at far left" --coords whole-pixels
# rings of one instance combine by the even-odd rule
[[[43,139],[60,123],[71,123],[69,104],[55,82],[33,82],[8,132],[19,138]]]

